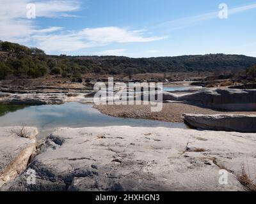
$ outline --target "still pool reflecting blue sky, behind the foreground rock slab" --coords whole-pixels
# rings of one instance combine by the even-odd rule
[[[35,126],[39,138],[47,136],[55,128],[134,126],[186,128],[183,123],[159,122],[156,120],[122,119],[100,113],[92,105],[65,103],[63,105],[28,106],[0,117],[0,126]]]

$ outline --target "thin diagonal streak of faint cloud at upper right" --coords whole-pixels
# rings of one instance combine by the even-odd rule
[[[234,15],[236,13],[240,13],[247,10],[252,10],[256,8],[256,3],[248,4],[246,6],[239,6],[236,8],[229,8],[228,15]],[[185,27],[191,27],[193,25],[198,24],[199,22],[205,20],[211,20],[219,17],[219,11],[213,11],[209,13],[204,13],[202,15],[195,15],[191,17],[184,17],[175,20],[170,20],[163,22],[159,25],[154,26],[154,28],[166,27],[169,31],[183,29]]]

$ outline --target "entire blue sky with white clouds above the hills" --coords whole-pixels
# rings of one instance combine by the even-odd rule
[[[0,0],[0,40],[47,54],[256,57],[256,1]],[[28,19],[29,3],[36,18]],[[228,18],[219,18],[219,5]]]

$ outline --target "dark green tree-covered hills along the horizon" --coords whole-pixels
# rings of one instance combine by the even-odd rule
[[[245,55],[184,55],[179,57],[129,58],[116,56],[45,55],[43,50],[0,41],[0,79],[15,76],[37,78],[62,75],[79,78],[81,74],[135,74],[175,71],[228,71],[250,68],[255,57]]]

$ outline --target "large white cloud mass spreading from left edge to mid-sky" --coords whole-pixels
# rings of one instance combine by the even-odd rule
[[[100,47],[111,43],[144,43],[161,40],[162,36],[146,36],[145,30],[122,27],[85,28],[65,31],[64,27],[36,26],[36,19],[26,18],[27,4],[36,4],[36,17],[74,17],[70,14],[80,8],[79,1],[70,0],[0,0],[0,40],[27,43],[49,54],[72,52],[84,48]],[[102,54],[118,54],[122,50],[106,50]],[[123,50],[124,51],[124,50]]]

